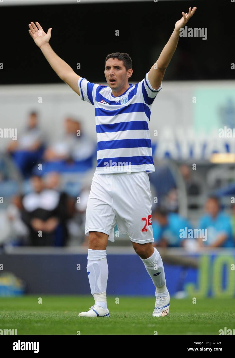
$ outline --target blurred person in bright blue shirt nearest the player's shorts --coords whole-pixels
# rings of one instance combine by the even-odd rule
[[[192,229],[191,223],[177,213],[167,212],[165,209],[157,209],[152,213],[155,246],[182,247],[187,238],[182,235],[182,230],[186,232],[189,229]]]

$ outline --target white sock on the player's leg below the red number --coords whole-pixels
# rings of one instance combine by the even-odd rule
[[[147,273],[156,287],[155,296],[166,297],[168,290],[166,288],[165,272],[160,253],[154,247],[154,253],[146,259],[141,258],[141,260],[144,262]]]

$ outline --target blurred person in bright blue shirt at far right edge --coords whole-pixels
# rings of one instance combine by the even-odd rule
[[[211,197],[205,204],[206,214],[199,220],[199,229],[207,229],[207,240],[198,239],[200,246],[234,247],[231,218],[220,210],[219,199]]]

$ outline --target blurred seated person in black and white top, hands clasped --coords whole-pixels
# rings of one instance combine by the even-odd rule
[[[31,178],[34,191],[23,197],[23,221],[30,229],[32,246],[64,246],[64,207],[57,190],[47,189],[39,176]],[[58,229],[58,230],[57,230]],[[58,237],[59,234],[59,237]]]

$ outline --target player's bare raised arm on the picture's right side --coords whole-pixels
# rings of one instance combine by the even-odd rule
[[[162,78],[165,74],[166,68],[170,63],[170,60],[176,50],[179,36],[180,36],[180,29],[185,26],[185,24],[189,21],[192,15],[195,13],[197,8],[189,8],[189,13],[185,14],[182,12],[182,18],[177,21],[175,24],[175,29],[172,32],[170,39],[168,40],[167,44],[165,45],[164,49],[162,50],[158,60],[154,63],[149,71],[148,78],[151,86],[154,89],[158,89],[161,85]]]

